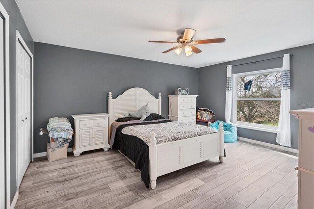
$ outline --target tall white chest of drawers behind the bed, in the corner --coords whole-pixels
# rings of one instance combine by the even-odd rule
[[[168,95],[169,120],[196,124],[196,97],[198,95]]]

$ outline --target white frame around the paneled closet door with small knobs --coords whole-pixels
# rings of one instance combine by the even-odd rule
[[[31,96],[30,96],[30,106],[31,106],[31,109],[30,109],[30,117],[31,117],[31,121],[30,121],[30,141],[31,141],[31,153],[30,153],[30,159],[31,161],[34,161],[34,113],[33,113],[33,110],[34,110],[34,56],[33,54],[30,52],[29,48],[27,47],[24,39],[22,38],[20,32],[18,30],[16,30],[16,42],[15,42],[15,47],[16,47],[16,60],[15,60],[15,73],[17,75],[17,71],[18,71],[18,66],[17,66],[17,63],[18,63],[18,56],[17,56],[17,52],[18,52],[18,44],[21,44],[22,47],[26,50],[26,52],[28,53],[28,55],[30,56],[30,63],[31,63],[31,72],[30,72],[30,79],[31,79],[31,84],[30,84],[30,91],[31,91]],[[16,79],[16,91],[18,90],[18,77],[16,76],[15,77]],[[18,101],[18,94],[16,92],[15,94],[15,97],[16,97],[16,101]],[[16,103],[16,137],[18,137],[18,104]],[[18,141],[16,142],[16,150],[18,150]],[[16,187],[17,187],[17,191],[19,189],[19,185],[18,185],[18,157],[16,158]]]

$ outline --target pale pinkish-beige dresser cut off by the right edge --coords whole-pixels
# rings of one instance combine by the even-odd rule
[[[314,108],[290,113],[299,119],[298,209],[314,209]]]

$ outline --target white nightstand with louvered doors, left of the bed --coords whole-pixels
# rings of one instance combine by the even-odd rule
[[[108,151],[107,113],[72,115],[74,118],[73,153],[78,157],[82,152],[103,148]]]

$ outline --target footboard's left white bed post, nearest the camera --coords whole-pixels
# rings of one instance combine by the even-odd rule
[[[157,143],[156,133],[151,132],[151,138],[149,141],[149,176],[151,179],[152,189],[156,188],[157,180]]]

